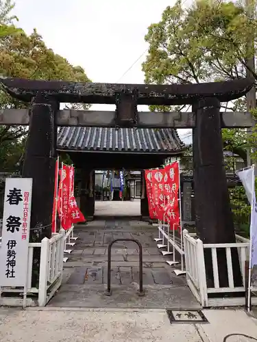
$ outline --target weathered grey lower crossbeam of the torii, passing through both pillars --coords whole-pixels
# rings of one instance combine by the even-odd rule
[[[116,127],[115,118],[115,111],[63,109],[56,114],[56,124],[60,127]],[[29,124],[29,112],[27,109],[0,109],[0,124],[27,125]],[[195,127],[195,113],[139,111],[137,127],[190,129]],[[252,116],[250,113],[240,111],[221,112],[221,127],[252,127]]]

